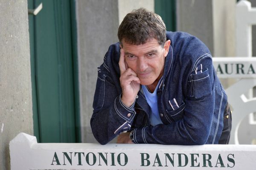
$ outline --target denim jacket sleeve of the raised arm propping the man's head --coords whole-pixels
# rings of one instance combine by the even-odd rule
[[[100,144],[107,144],[119,133],[130,130],[136,112],[134,104],[127,108],[121,101],[119,77],[111,75],[104,62],[98,68],[98,78],[93,99],[93,115],[90,125],[94,137]],[[116,77],[113,81],[113,76]]]

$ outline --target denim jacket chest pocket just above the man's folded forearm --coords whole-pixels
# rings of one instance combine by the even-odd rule
[[[169,103],[169,105],[170,105],[170,103]],[[185,105],[184,102],[182,102],[181,105],[178,106],[178,107],[173,107],[173,106],[169,107],[169,106],[167,106],[167,110],[166,110],[167,120],[169,122],[177,122],[178,120],[183,119],[185,106],[186,105]]]

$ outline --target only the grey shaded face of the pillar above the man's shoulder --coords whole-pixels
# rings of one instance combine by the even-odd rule
[[[212,0],[177,0],[177,31],[202,40],[213,52]]]

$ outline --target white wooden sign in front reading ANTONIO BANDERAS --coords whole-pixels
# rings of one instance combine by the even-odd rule
[[[256,145],[37,143],[20,133],[10,156],[11,170],[255,170]]]

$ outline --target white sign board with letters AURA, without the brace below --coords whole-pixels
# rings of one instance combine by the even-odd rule
[[[213,57],[219,78],[256,78],[256,57]]]

